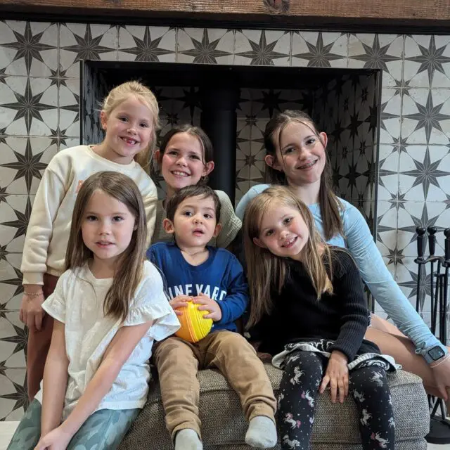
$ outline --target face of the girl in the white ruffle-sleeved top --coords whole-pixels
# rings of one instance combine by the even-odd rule
[[[124,203],[103,191],[95,191],[82,221],[83,241],[94,253],[94,262],[115,264],[127,250],[134,226],[134,215]]]

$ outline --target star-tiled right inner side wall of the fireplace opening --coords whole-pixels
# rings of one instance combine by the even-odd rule
[[[377,74],[342,75],[316,91],[314,117],[328,134],[336,193],[375,229]]]

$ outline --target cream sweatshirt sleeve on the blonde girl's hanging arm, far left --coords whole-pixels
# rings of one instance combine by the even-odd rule
[[[23,284],[44,284],[53,221],[65,197],[64,181],[49,167],[42,176],[30,215],[22,265]]]

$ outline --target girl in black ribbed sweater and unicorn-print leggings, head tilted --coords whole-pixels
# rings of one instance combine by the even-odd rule
[[[394,449],[395,424],[386,372],[390,356],[364,340],[369,312],[359,271],[314,229],[309,208],[288,188],[257,195],[244,218],[252,299],[248,328],[260,352],[283,369],[278,398],[282,449],[310,449],[316,399],[351,394],[364,450]]]

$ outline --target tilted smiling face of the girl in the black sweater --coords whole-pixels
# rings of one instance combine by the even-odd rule
[[[300,259],[309,238],[309,229],[300,211],[271,203],[262,216],[259,237],[253,242],[279,257]]]

